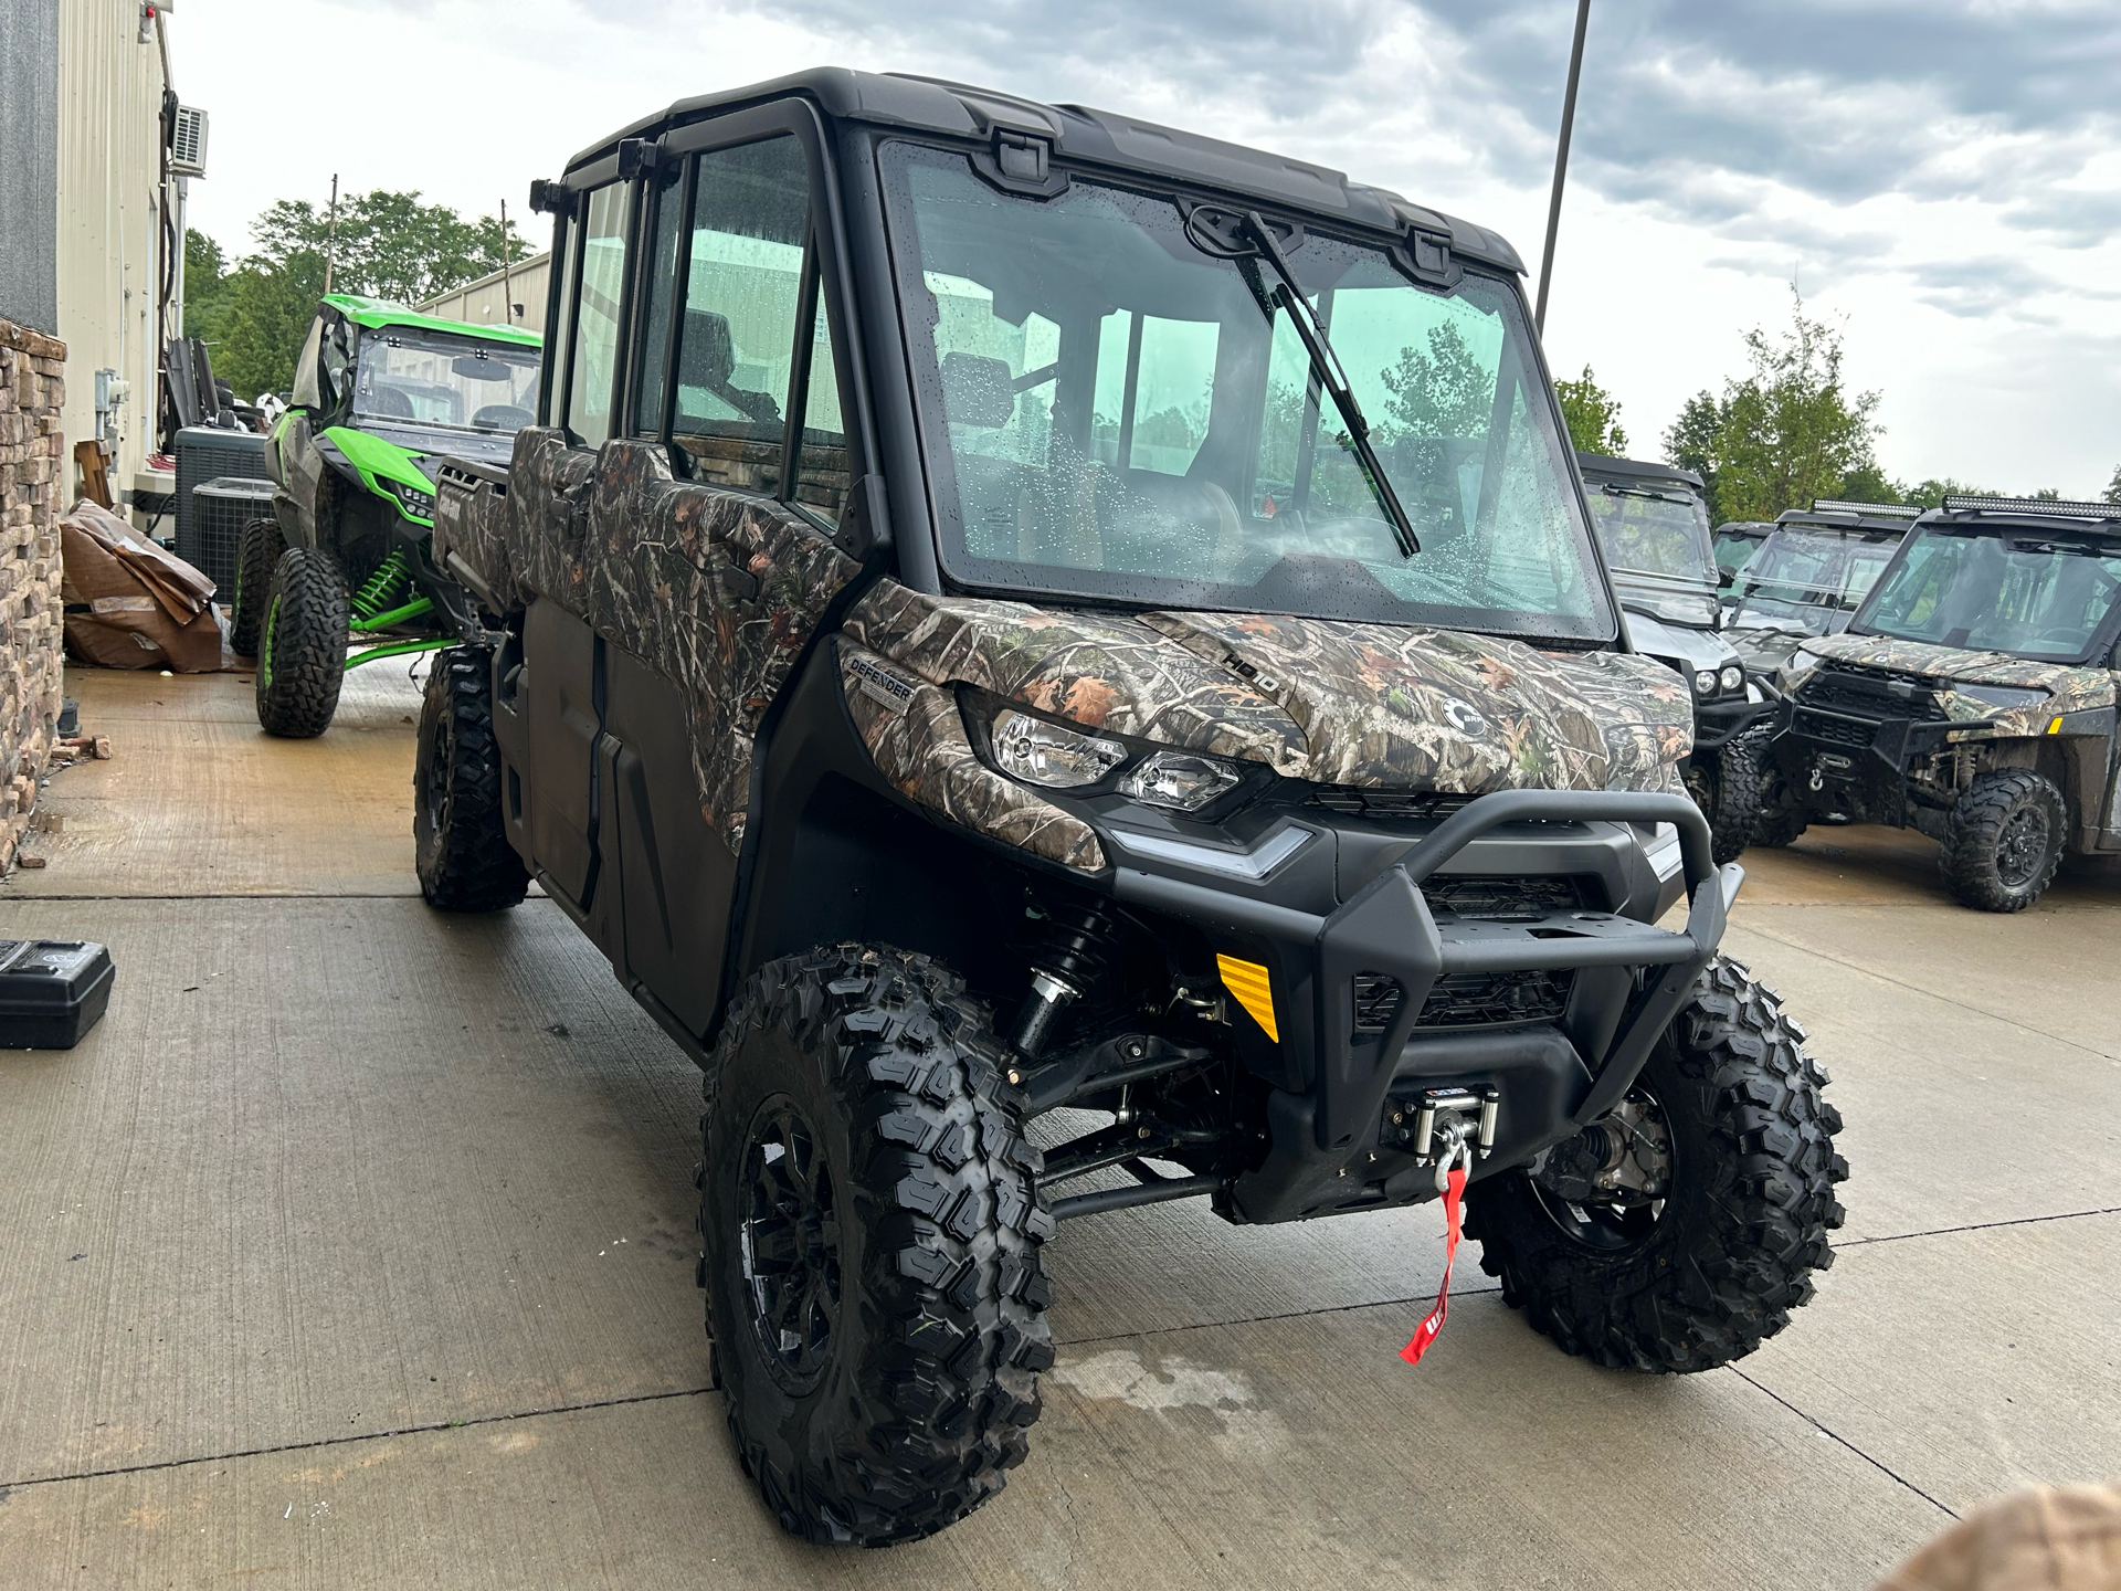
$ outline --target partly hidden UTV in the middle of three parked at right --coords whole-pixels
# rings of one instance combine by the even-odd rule
[[[1824,499],[1784,511],[1724,594],[1724,641],[1746,672],[1780,685],[1807,636],[1847,630],[1920,513],[1903,503]]]

